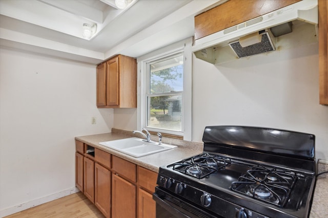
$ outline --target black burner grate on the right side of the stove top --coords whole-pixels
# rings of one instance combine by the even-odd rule
[[[231,189],[276,206],[283,207],[297,180],[294,172],[280,168],[254,166],[233,182]]]

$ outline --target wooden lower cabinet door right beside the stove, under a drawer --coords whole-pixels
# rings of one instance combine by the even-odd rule
[[[138,218],[155,218],[156,203],[153,196],[139,188],[138,192]]]

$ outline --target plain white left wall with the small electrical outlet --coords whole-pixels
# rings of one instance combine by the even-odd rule
[[[110,132],[113,110],[96,108],[95,65],[6,49],[0,62],[4,216],[74,191],[74,137]]]

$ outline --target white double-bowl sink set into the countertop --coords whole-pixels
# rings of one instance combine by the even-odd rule
[[[171,146],[170,144],[147,142],[137,137],[118,139],[113,141],[103,141],[99,142],[99,144],[114,149],[116,151],[131,155],[133,157],[142,157],[176,148],[176,146]]]

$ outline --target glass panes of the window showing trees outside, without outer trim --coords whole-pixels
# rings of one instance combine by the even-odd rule
[[[182,131],[183,54],[153,60],[147,66],[147,128]]]

